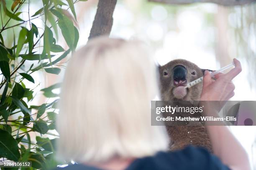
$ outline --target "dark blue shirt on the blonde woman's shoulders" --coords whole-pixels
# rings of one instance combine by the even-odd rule
[[[56,170],[101,170],[82,164]],[[218,157],[202,147],[188,146],[174,152],[158,152],[154,156],[138,158],[125,170],[230,170]]]

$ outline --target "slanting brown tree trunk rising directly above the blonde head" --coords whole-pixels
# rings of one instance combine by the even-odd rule
[[[116,2],[117,0],[99,0],[89,40],[96,36],[109,36],[113,25],[113,12]]]

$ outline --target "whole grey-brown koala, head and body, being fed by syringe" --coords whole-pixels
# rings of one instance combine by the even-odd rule
[[[202,83],[186,89],[184,86],[202,77],[205,70],[182,59],[173,60],[160,66],[161,99],[164,101],[199,101]],[[200,123],[195,126],[166,126],[166,129],[171,139],[170,150],[179,150],[187,145],[196,145],[212,151],[207,131]]]

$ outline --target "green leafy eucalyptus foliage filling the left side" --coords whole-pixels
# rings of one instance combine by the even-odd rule
[[[33,169],[49,169],[57,165],[52,157],[57,139],[50,140],[41,135],[58,137],[49,130],[56,129],[58,94],[53,90],[60,84],[41,89],[46,98],[56,100],[33,106],[31,101],[38,94],[35,88],[39,80],[35,80],[32,73],[59,74],[64,67],[61,61],[76,49],[79,32],[75,26],[74,4],[79,1],[86,0],[41,0],[41,8],[31,15],[31,0],[0,0],[0,89],[3,90],[0,95],[0,158],[4,160],[31,160]],[[23,8],[25,4],[28,8]],[[23,12],[28,13],[28,20],[19,17]],[[37,19],[44,25],[42,31],[33,23]],[[58,36],[63,36],[69,49],[64,50],[57,44]],[[12,46],[8,45],[10,37],[13,37]],[[35,87],[26,87],[24,80]],[[13,119],[14,114],[18,118]],[[30,132],[36,132],[40,137],[32,138]]]

